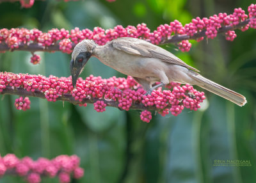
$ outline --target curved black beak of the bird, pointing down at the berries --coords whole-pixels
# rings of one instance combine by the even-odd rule
[[[76,88],[77,78],[87,61],[88,61],[88,58],[84,58],[83,61],[74,61],[74,60],[70,61],[70,72],[72,76],[73,88]]]

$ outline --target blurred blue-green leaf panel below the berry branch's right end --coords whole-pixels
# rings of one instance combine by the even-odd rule
[[[194,112],[193,112],[194,113]],[[196,180],[196,150],[193,146],[193,113],[186,110],[172,117],[174,126],[168,137],[165,180],[168,182],[198,182]]]

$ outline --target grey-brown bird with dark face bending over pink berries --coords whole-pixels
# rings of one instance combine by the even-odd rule
[[[243,95],[203,77],[198,73],[199,70],[189,66],[171,52],[146,40],[132,37],[116,38],[105,45],[97,45],[89,39],[79,42],[74,47],[70,61],[74,88],[77,77],[91,56],[118,72],[132,76],[147,91],[146,95],[173,81],[200,86],[238,106],[244,106],[247,102]]]

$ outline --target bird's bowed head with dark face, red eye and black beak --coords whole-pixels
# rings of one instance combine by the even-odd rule
[[[77,77],[92,56],[95,47],[96,44],[93,40],[83,40],[74,48],[74,51],[72,52],[72,60],[70,61],[70,72],[74,88],[76,88]]]

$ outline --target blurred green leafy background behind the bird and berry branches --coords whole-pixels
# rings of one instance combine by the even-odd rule
[[[36,1],[33,8],[19,3],[0,6],[0,28],[93,29],[136,26],[150,29],[174,19],[186,24],[191,18],[214,13],[232,13],[254,1],[243,0],[104,0]],[[206,92],[200,111],[184,110],[179,116],[155,115],[152,122],[140,121],[139,111],[107,107],[105,113],[65,102],[31,98],[29,111],[17,111],[17,96],[1,96],[0,154],[29,155],[34,159],[60,154],[81,157],[84,177],[77,182],[256,182],[256,36],[255,30],[236,31],[234,42],[218,35],[214,40],[193,44],[190,52],[164,49],[201,70],[209,79],[243,93],[244,107]],[[45,76],[69,76],[70,55],[39,53],[40,65],[29,63],[29,52],[0,54],[0,71],[28,72]],[[99,60],[90,60],[81,77],[124,76]],[[200,89],[202,90],[202,89]],[[249,160],[252,166],[213,166],[214,160]],[[22,182],[4,177],[0,182]],[[58,182],[44,180],[43,182]]]

